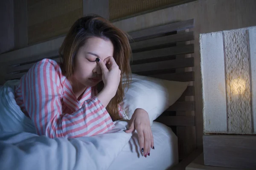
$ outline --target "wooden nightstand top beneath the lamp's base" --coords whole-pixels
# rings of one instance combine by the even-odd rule
[[[204,154],[195,158],[187,167],[186,170],[249,170],[241,168],[230,168],[230,167],[213,167],[204,165]]]

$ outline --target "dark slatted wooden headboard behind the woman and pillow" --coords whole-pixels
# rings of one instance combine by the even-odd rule
[[[194,96],[194,20],[155,26],[130,32],[133,52],[131,70],[138,75],[146,75],[171,81],[189,81],[186,91],[156,121],[169,127],[178,137],[179,157],[183,159],[196,147]],[[51,58],[59,61],[58,50],[42,55],[22,58],[8,63],[5,80],[19,79],[37,61]]]

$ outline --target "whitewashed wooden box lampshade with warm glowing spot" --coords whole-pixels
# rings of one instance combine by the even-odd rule
[[[251,87],[256,79],[250,64],[255,61],[249,50],[254,37],[248,37],[253,28],[200,35],[205,134],[255,134]]]

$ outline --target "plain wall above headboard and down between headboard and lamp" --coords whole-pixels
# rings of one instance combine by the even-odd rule
[[[256,0],[198,0],[114,23],[127,32],[195,19],[195,116],[197,145],[202,145],[203,114],[199,34],[256,26]]]

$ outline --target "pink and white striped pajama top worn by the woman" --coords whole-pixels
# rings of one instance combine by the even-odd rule
[[[20,79],[15,95],[38,135],[74,138],[102,134],[114,127],[108,111],[96,97],[96,88],[87,87],[78,101],[59,64],[50,59],[29,69]],[[119,115],[124,114],[119,106]]]

